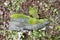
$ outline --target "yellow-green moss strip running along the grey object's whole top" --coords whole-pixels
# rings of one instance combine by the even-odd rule
[[[24,14],[12,14],[11,18],[28,18],[28,23],[29,24],[37,24],[39,23],[44,23],[45,21],[47,21],[48,19],[36,19],[36,18],[31,18],[30,16],[24,15]]]

